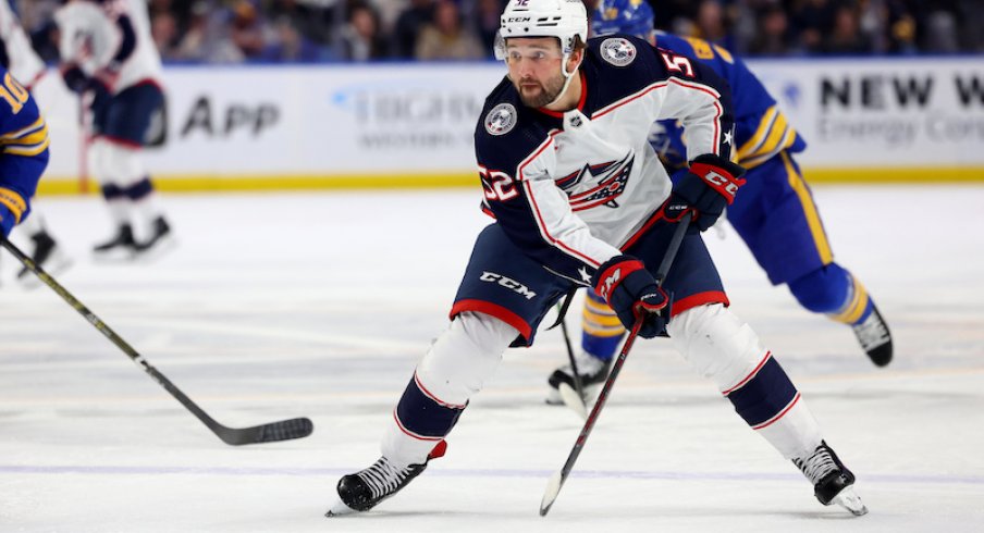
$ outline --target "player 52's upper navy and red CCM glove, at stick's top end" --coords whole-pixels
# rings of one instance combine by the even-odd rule
[[[690,162],[690,171],[673,187],[665,210],[667,219],[679,220],[696,211],[693,224],[700,231],[714,225],[726,206],[735,201],[745,185],[745,169],[719,156],[705,153]]]

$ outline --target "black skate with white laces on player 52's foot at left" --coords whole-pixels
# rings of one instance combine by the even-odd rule
[[[447,445],[441,441],[422,464],[410,464],[406,468],[394,467],[385,457],[380,457],[371,467],[339,480],[339,501],[325,517],[337,517],[362,512],[372,509],[380,501],[393,496],[414,481],[427,468],[431,459],[444,455]]]

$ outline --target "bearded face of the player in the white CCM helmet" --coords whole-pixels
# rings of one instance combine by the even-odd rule
[[[506,42],[509,79],[524,104],[542,108],[561,96],[563,60],[561,44],[552,37],[511,38]]]

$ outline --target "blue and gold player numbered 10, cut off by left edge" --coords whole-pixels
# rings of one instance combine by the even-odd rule
[[[7,69],[0,67],[0,237],[30,213],[30,198],[48,166],[48,125]]]

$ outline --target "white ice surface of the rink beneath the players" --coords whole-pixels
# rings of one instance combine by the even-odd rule
[[[88,257],[110,233],[98,199],[40,203],[75,258],[63,285],[214,418],[308,416],[316,430],[222,444],[54,293],[16,285],[4,251],[0,532],[984,531],[984,187],[815,194],[838,260],[895,333],[887,369],[847,327],[770,286],[734,232],[708,241],[734,310],[858,475],[865,517],[817,504],[654,340],[637,344],[540,518],[581,426],[542,402],[566,358],[551,331],[506,355],[447,456],[406,491],[362,516],[322,518],[337,478],[378,457],[485,219],[477,190],[312,193],[167,196],[179,248],[130,265]]]

